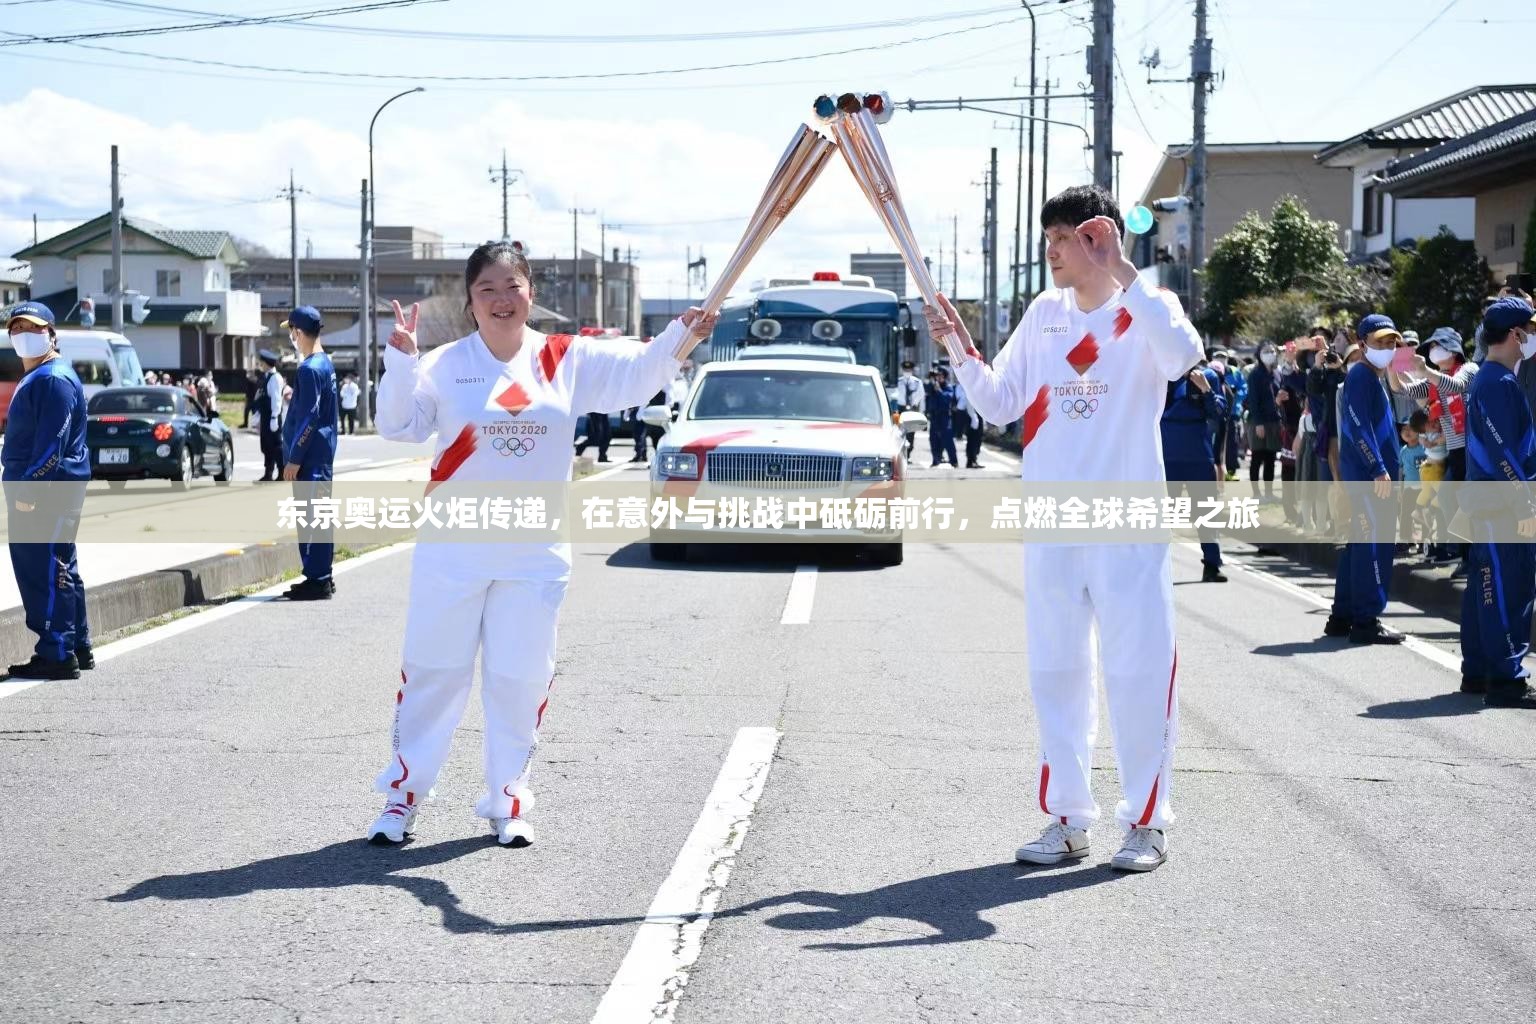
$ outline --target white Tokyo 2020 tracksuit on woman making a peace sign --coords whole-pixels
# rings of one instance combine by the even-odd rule
[[[650,344],[527,330],[510,362],[478,333],[418,356],[387,347],[378,430],[412,442],[436,433],[433,481],[568,481],[576,418],[648,402],[677,375],[685,333],[682,321]],[[485,795],[476,814],[515,817],[531,806],[528,766],[554,677],[570,565],[568,543],[416,545],[381,792],[406,803],[430,794],[479,649]]]

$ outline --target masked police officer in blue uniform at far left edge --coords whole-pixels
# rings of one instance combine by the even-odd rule
[[[12,665],[14,679],[80,679],[95,668],[86,622],[86,590],[75,559],[75,531],[91,479],[86,395],[58,358],[54,313],[41,302],[12,307],[6,322],[25,376],[11,396],[0,450],[11,534],[11,568],[37,634],[32,659]]]

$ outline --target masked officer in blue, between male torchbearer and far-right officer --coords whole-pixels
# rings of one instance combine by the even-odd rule
[[[1344,375],[1339,396],[1339,477],[1349,485],[1352,542],[1339,554],[1333,609],[1322,633],[1347,636],[1350,643],[1402,643],[1401,633],[1381,625],[1398,520],[1392,482],[1402,481],[1384,375],[1402,335],[1381,313],[1361,319],[1355,335],[1366,358]]]

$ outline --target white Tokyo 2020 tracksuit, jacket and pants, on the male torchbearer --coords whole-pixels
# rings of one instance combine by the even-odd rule
[[[986,365],[957,370],[983,419],[1023,419],[1026,482],[1163,481],[1167,382],[1201,358],[1178,299],[1137,279],[1083,312],[1071,289],[1043,292]],[[1074,826],[1098,818],[1091,789],[1098,731],[1092,628],[1104,672],[1123,824],[1163,829],[1178,732],[1174,586],[1164,543],[1025,545],[1029,683],[1040,717],[1040,809]]]

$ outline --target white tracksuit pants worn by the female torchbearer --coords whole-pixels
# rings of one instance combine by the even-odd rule
[[[528,768],[554,680],[554,634],[565,580],[492,580],[412,567],[406,652],[395,695],[390,765],[375,788],[406,803],[430,795],[464,717],[481,651],[485,712],[484,818],[531,806]]]

